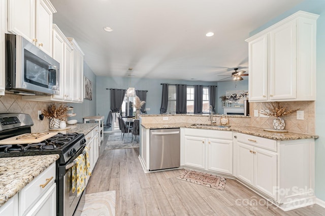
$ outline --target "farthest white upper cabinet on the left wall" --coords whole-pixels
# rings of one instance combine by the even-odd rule
[[[72,100],[74,102],[83,102],[83,56],[85,54],[74,38],[68,37],[68,40],[73,47],[72,68],[74,77],[72,79]]]

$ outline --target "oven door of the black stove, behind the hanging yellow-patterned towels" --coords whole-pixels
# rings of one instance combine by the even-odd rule
[[[77,158],[83,152],[81,148],[67,165],[59,165],[59,178],[58,178],[58,215],[72,216],[80,215],[83,205],[85,203],[85,191],[78,197],[77,190],[72,192],[72,167]]]

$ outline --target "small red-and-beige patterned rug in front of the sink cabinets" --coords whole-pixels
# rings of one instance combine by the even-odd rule
[[[215,188],[223,191],[225,186],[226,178],[207,174],[205,172],[193,171],[185,169],[184,172],[177,177],[177,179],[191,182],[197,185],[203,185],[209,188]]]

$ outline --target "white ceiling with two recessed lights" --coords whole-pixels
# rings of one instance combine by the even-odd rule
[[[302,1],[51,0],[53,23],[77,40],[97,76],[133,68],[136,77],[203,81],[235,67],[249,72],[249,32]]]

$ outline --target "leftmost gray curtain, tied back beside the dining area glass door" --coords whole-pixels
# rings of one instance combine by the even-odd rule
[[[111,89],[111,110],[108,113],[105,127],[110,128],[112,126],[113,112],[120,112],[121,106],[125,96],[125,89]]]

